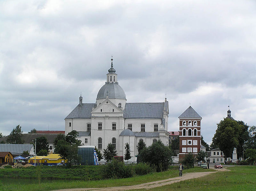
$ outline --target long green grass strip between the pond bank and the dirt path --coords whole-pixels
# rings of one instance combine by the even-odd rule
[[[205,172],[205,171],[214,171],[212,169],[201,169],[199,167],[185,169],[184,173],[188,172]],[[154,172],[151,174],[143,176],[135,176],[132,178],[126,179],[109,179],[109,180],[91,180],[91,181],[82,181],[82,180],[58,180],[58,181],[49,181],[37,184],[22,184],[18,181],[13,181],[7,185],[0,186],[0,190],[3,191],[47,191],[55,189],[65,189],[65,188],[79,188],[79,187],[114,187],[114,186],[129,186],[136,185],[145,182],[151,182],[156,180],[164,180],[168,178],[173,178],[179,176],[179,171],[177,166],[172,166],[168,171],[165,172]]]

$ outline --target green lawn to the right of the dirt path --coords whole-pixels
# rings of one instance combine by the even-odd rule
[[[193,180],[184,180],[171,185],[147,189],[147,191],[256,190],[256,166],[234,166],[228,169],[231,171],[216,172]],[[143,190],[145,189],[140,189],[140,191]]]

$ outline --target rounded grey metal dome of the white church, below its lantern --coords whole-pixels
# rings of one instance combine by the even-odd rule
[[[106,82],[105,85],[100,88],[96,99],[107,98],[107,94],[108,98],[126,99],[124,90],[118,85],[118,82]]]

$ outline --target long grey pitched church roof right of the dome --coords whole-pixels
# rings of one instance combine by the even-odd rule
[[[164,105],[168,103],[126,103],[124,118],[163,118]]]

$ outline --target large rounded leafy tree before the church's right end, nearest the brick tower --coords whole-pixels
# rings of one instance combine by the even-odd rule
[[[165,171],[172,164],[172,151],[158,140],[140,151],[141,162],[156,166],[158,172]]]

